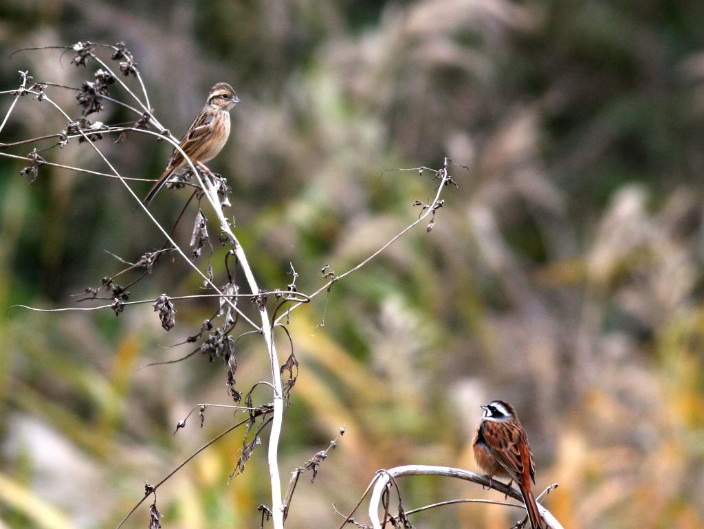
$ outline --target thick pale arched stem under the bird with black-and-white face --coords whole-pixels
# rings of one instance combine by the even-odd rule
[[[517,499],[520,502],[523,501],[520,492],[517,490],[507,487],[503,483],[497,480],[489,480],[485,476],[479,476],[474,472],[466,471],[463,469],[453,469],[448,466],[432,466],[432,465],[404,465],[396,466],[393,469],[384,470],[377,472],[375,476],[374,490],[372,490],[372,497],[369,500],[369,518],[372,521],[372,527],[374,529],[381,529],[382,523],[379,521],[379,503],[382,500],[382,495],[389,481],[401,476],[446,476],[448,478],[458,478],[467,481],[472,481],[472,483],[477,483],[482,485],[482,487],[489,487],[501,494],[510,496],[513,499]],[[538,504],[538,509],[543,521],[548,524],[550,529],[563,529],[560,522],[557,521],[555,516],[551,514],[548,509]]]

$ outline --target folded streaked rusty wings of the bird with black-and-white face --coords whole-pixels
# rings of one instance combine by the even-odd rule
[[[513,480],[519,485],[524,482],[526,464],[529,465],[529,476],[533,478],[533,456],[526,434],[520,426],[514,423],[484,421],[482,434],[491,454]]]

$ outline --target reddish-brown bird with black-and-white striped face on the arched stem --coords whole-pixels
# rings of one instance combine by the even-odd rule
[[[484,414],[474,431],[474,460],[491,479],[510,478],[518,484],[532,529],[542,529],[538,504],[533,495],[535,464],[515,409],[503,400],[482,406]]]

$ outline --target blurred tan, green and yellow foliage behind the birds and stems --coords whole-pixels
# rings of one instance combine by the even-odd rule
[[[547,504],[565,527],[700,528],[702,20],[699,0],[5,0],[0,78],[13,89],[28,69],[77,86],[94,68],[70,54],[8,54],[121,40],[177,135],[210,86],[232,83],[243,104],[211,167],[234,188],[237,234],[265,288],[289,283],[292,262],[300,291],[313,291],[324,265],[343,272],[415,218],[413,200],[433,190],[427,174],[382,170],[438,167],[443,155],[470,167],[453,170],[460,187],[431,233],[418,227],[291,318],[301,374],[284,481],[347,428],[315,484],[301,481],[292,528],[337,527],[331,503],[350,509],[382,467],[476,470],[472,428],[497,397],[529,432],[539,488],[560,483]],[[47,93],[78,115],[70,91]],[[107,106],[96,119],[133,117]],[[27,97],[0,139],[63,127]],[[144,137],[101,146],[122,174],[156,177],[169,148]],[[48,158],[103,170],[77,144]],[[178,302],[168,335],[149,305],[117,319],[8,310],[73,305],[119,269],[103,250],[135,260],[162,242],[118,181],[42,167],[30,186],[23,165],[0,158],[0,527],[111,528],[145,481],[232,423],[211,408],[202,430],[196,417],[172,435],[194,404],[230,402],[220,364],[139,369],[187,352],[168,345],[213,305]],[[163,191],[153,210],[168,223],[185,195]],[[165,260],[132,294],[199,286]],[[237,378],[249,388],[268,364],[260,339],[241,343]],[[165,527],[258,527],[265,450],[227,485],[240,446],[230,434],[159,490]],[[496,498],[440,478],[401,487],[407,509]],[[467,505],[413,522],[506,528],[516,516]],[[127,526],[147,523],[142,509]]]

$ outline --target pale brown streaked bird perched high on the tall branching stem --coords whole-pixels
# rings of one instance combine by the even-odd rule
[[[206,106],[179,142],[180,148],[191,158],[194,165],[207,171],[205,162],[212,160],[222,151],[230,136],[230,110],[239,102],[234,89],[227,83],[215,84],[210,89]],[[178,149],[174,148],[165,171],[144,198],[144,205],[149,205],[173,172],[183,169],[186,165],[187,161]]]

